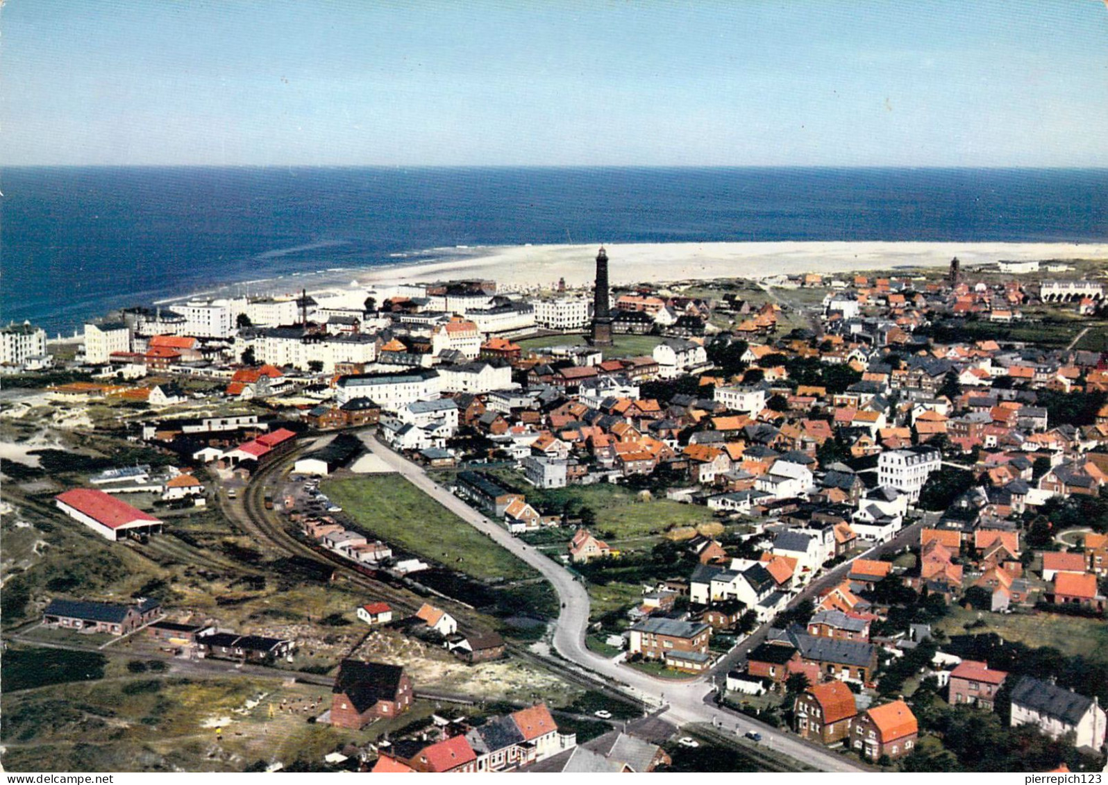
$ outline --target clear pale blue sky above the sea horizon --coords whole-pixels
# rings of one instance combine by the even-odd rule
[[[1108,166],[1100,0],[8,0],[0,163]]]

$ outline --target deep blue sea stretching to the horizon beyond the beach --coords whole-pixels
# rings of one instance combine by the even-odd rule
[[[35,167],[0,190],[0,318],[51,334],[480,246],[1108,240],[1105,169]]]

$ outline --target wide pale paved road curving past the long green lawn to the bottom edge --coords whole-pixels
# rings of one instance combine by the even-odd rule
[[[740,733],[745,733],[748,730],[757,730],[762,734],[765,743],[776,752],[784,753],[823,771],[866,771],[852,761],[828,752],[823,747],[809,744],[796,736],[784,735],[736,712],[716,707],[708,702],[715,688],[705,679],[695,681],[655,679],[589,651],[585,647],[585,629],[588,626],[588,592],[564,567],[516,539],[503,526],[489,520],[448,489],[438,485],[427,476],[421,466],[388,450],[372,436],[367,436],[365,442],[373,454],[378,455],[390,468],[440,502],[462,520],[489,535],[496,544],[537,569],[550,580],[562,600],[562,611],[554,624],[554,649],[565,659],[593,673],[627,684],[648,702],[667,704],[668,709],[663,716],[679,725],[718,721],[728,731],[738,729]]]

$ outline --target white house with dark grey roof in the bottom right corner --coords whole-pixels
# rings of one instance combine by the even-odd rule
[[[1075,746],[1099,753],[1105,745],[1108,716],[1096,698],[1020,676],[1012,689],[1012,725],[1036,725],[1054,738],[1073,733]]]

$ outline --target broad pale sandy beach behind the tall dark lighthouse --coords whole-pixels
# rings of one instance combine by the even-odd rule
[[[506,246],[430,265],[359,271],[362,285],[491,278],[505,288],[593,279],[597,246]],[[613,283],[763,278],[779,273],[891,270],[1005,260],[1108,259],[1108,245],[1066,242],[638,242],[607,246]]]

